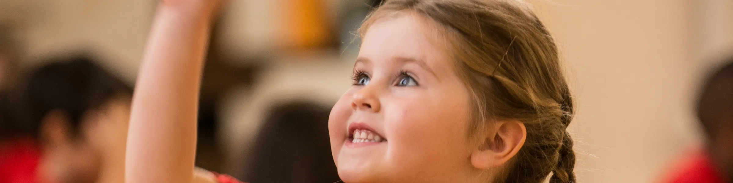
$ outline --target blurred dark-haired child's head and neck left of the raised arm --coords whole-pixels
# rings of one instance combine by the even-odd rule
[[[86,56],[48,62],[24,91],[39,124],[40,173],[49,182],[122,182],[132,88]]]

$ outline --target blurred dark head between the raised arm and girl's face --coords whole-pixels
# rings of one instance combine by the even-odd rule
[[[241,180],[338,182],[326,123],[330,111],[323,105],[298,101],[273,108],[254,142]]]

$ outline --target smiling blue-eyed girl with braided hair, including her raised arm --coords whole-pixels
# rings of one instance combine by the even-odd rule
[[[133,99],[126,181],[194,178],[196,97],[219,1],[165,0]],[[572,98],[548,31],[516,0],[391,0],[364,22],[331,110],[343,182],[575,182]]]

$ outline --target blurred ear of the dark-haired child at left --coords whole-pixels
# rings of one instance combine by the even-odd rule
[[[71,129],[66,113],[52,110],[41,119],[40,137],[45,148],[54,148],[71,141]]]

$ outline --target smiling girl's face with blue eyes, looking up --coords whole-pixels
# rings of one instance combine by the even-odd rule
[[[328,119],[344,182],[460,182],[471,172],[469,92],[417,15],[378,20]]]

